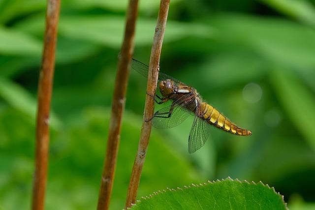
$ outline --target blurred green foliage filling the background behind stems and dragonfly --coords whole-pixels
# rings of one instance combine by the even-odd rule
[[[96,207],[126,4],[62,1],[47,210]],[[140,4],[134,58],[148,63],[159,1]],[[30,208],[45,6],[0,1],[0,209]],[[293,210],[314,207],[314,17],[314,0],[171,1],[161,71],[253,135],[213,128],[190,155],[192,119],[153,129],[139,197],[230,176],[274,186]],[[145,88],[131,72],[111,209],[125,204]]]

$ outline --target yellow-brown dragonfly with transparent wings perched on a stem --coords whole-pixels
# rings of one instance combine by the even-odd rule
[[[148,77],[148,65],[132,59],[131,68]],[[162,72],[158,75],[158,89],[160,95],[151,95],[155,101],[158,104],[171,101],[171,105],[156,111],[150,120],[153,120],[152,124],[156,128],[172,128],[181,124],[189,115],[193,116],[188,138],[189,153],[204,146],[209,136],[210,125],[239,136],[252,135],[252,131],[237,126],[205,102],[195,88]]]

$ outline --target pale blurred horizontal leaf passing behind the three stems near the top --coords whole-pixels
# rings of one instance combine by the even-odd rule
[[[107,47],[120,48],[125,30],[125,17],[122,16],[63,16],[60,18],[59,34],[71,40],[84,40]],[[153,42],[155,19],[138,19],[135,43],[151,45]],[[42,17],[37,16],[18,24],[19,30],[42,34]],[[82,30],[84,29],[84,30]],[[168,21],[164,41],[179,40],[188,36],[209,37],[210,27],[201,24]]]

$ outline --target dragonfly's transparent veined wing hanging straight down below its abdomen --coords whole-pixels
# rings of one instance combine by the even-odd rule
[[[195,119],[193,120],[193,124],[189,133],[189,153],[199,150],[205,144],[209,136],[209,124],[206,122],[206,120],[200,118],[200,115],[198,115],[197,112],[200,113],[199,106],[196,109]]]

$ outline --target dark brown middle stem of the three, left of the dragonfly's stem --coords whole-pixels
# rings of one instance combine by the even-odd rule
[[[112,114],[107,139],[107,151],[98,195],[97,210],[108,210],[112,192],[120,142],[121,124],[126,101],[126,87],[129,76],[130,61],[134,49],[134,32],[138,13],[138,0],[129,0],[126,15],[125,37],[115,81],[112,102]]]

